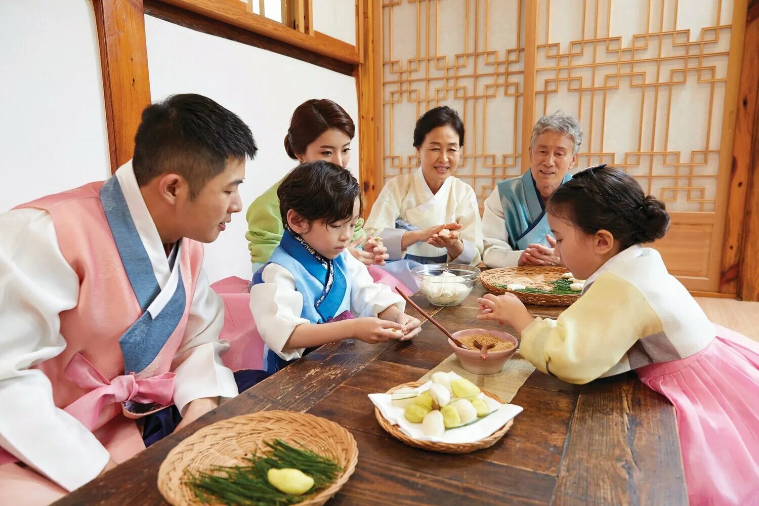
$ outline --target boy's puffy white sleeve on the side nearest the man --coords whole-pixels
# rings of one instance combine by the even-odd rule
[[[261,279],[263,283],[250,287],[250,312],[263,342],[282,360],[301,358],[306,348],[285,347],[295,327],[310,323],[301,318],[303,295],[295,288],[295,278],[279,264],[269,263]]]

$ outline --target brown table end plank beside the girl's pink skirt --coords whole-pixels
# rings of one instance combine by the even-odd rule
[[[585,385],[553,504],[688,504],[672,404],[634,373]]]

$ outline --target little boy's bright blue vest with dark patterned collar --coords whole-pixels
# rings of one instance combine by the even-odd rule
[[[332,260],[333,281],[329,291],[325,291],[327,269],[303,244],[285,230],[279,246],[266,263],[253,277],[253,284],[263,283],[263,269],[269,263],[276,263],[287,269],[295,278],[295,289],[303,296],[301,318],[311,323],[326,323],[335,316],[351,310],[351,273],[345,262],[343,251]],[[268,346],[263,348],[263,368],[273,374],[290,361],[283,360]]]

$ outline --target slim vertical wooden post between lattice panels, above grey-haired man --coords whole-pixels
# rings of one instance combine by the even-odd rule
[[[525,2],[524,11],[524,90],[522,90],[521,165],[530,170],[530,136],[535,123],[535,83],[537,80],[537,0]]]

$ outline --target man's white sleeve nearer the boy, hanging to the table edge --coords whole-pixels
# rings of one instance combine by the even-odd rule
[[[219,341],[223,326],[224,302],[201,270],[184,338],[172,362],[172,371],[177,375],[174,404],[183,415],[187,404],[195,399],[219,397],[221,402],[238,394],[235,375],[221,359],[229,350],[227,341]]]

